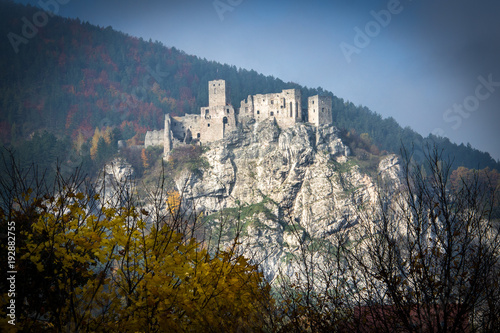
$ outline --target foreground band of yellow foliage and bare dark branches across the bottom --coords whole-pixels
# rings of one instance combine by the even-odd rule
[[[139,199],[127,181],[110,192],[77,171],[48,186],[35,168],[4,160],[0,225],[15,225],[16,326],[3,279],[0,329],[496,332],[496,171],[482,184],[476,171],[448,177],[440,155],[429,158],[430,173],[407,157],[393,201],[380,192],[380,206],[360,207],[358,225],[328,242],[302,237],[285,215],[298,240],[286,258],[296,271],[279,268],[272,288],[241,255],[239,232],[229,244],[211,239],[203,212],[163,181]]]

